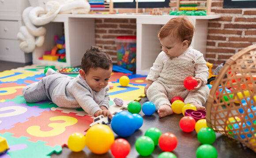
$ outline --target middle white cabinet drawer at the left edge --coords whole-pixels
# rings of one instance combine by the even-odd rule
[[[17,39],[19,27],[18,21],[0,21],[0,38]]]

